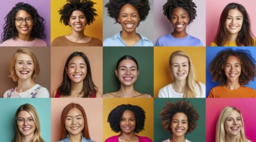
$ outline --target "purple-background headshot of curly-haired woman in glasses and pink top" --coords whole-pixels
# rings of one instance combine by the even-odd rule
[[[50,1],[6,1],[0,8],[0,46],[50,45]]]

